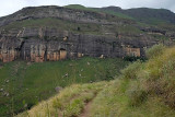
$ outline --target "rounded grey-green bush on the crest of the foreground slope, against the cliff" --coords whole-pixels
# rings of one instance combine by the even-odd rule
[[[154,58],[158,57],[160,55],[163,54],[163,51],[165,50],[165,46],[163,46],[162,44],[155,45],[152,48],[149,48],[145,51],[147,58]]]

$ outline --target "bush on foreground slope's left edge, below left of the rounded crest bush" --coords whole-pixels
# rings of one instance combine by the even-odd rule
[[[137,73],[141,69],[142,63],[141,61],[136,61],[124,69],[121,72],[125,79],[137,79]]]

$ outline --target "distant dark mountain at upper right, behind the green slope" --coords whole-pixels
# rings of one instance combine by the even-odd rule
[[[154,25],[162,23],[175,24],[174,22],[175,14],[170,10],[165,9],[137,8],[137,9],[122,10],[118,7],[107,7],[107,8],[101,8],[101,10],[119,13],[126,15],[127,17],[147,24],[154,24]]]

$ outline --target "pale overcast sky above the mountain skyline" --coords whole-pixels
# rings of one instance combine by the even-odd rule
[[[116,5],[129,8],[164,8],[175,12],[175,0],[1,0],[0,16],[11,14],[24,7],[82,4],[85,7]]]

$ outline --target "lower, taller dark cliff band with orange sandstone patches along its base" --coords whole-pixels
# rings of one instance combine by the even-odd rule
[[[144,57],[144,49],[158,43],[160,42],[147,35],[107,37],[46,27],[11,30],[1,31],[0,60],[8,62],[22,59],[43,62],[83,56]]]

